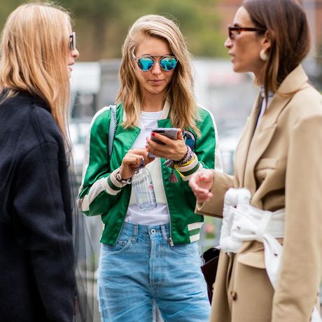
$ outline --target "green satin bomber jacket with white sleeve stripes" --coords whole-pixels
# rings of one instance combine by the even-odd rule
[[[191,129],[184,132],[186,144],[197,155],[197,166],[190,169],[189,175],[185,178],[176,174],[178,182],[172,183],[169,181],[172,169],[163,165],[164,159],[160,162],[169,209],[170,238],[173,244],[189,244],[200,239],[204,218],[194,213],[196,200],[188,186],[188,178],[192,172],[202,167],[210,169],[216,167],[217,170],[222,168],[214,117],[203,107],[198,107],[197,113],[199,113],[197,127],[201,135],[197,137]],[[114,135],[111,158],[108,152],[111,120],[109,106],[95,114],[86,141],[83,178],[78,194],[78,207],[85,215],[102,216],[104,231],[101,242],[110,245],[118,240],[132,190],[131,185],[118,186],[118,183],[112,180],[111,173],[120,167],[123,157],[132,148],[141,131],[139,127],[125,129],[120,125],[124,118],[123,114],[123,105],[118,104],[116,109],[118,126]],[[168,118],[169,111],[166,114],[166,118],[158,120],[158,127],[173,127]]]

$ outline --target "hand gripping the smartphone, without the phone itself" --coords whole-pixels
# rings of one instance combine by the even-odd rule
[[[152,132],[151,136],[165,144],[158,144],[151,140],[151,138],[147,138],[146,148],[148,149],[148,152],[153,153],[153,155],[158,155],[160,158],[174,161],[180,161],[186,155],[187,146],[183,139],[181,129],[179,129],[176,140],[169,139],[168,137],[155,132]]]

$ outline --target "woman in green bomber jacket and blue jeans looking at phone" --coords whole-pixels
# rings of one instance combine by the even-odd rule
[[[216,125],[197,107],[190,54],[176,24],[146,15],[123,45],[117,128],[109,161],[110,109],[97,112],[87,139],[78,205],[104,223],[99,261],[102,321],[152,321],[153,300],[166,321],[208,321],[207,286],[188,180],[202,168],[221,170]],[[176,127],[172,140],[152,132]],[[151,140],[151,137],[165,145]],[[149,158],[148,153],[157,158]],[[131,185],[141,161],[153,178],[157,207],[139,211]],[[176,181],[176,182],[174,182]]]

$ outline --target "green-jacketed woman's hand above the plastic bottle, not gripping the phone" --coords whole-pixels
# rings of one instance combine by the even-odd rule
[[[120,166],[120,176],[122,179],[130,179],[133,176],[134,170],[141,165],[142,159],[144,160],[144,165],[148,165],[148,163],[154,160],[154,158],[148,157],[148,151],[145,148],[127,151]]]

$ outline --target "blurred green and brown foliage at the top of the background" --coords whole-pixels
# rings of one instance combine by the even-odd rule
[[[218,0],[61,0],[59,5],[73,13],[80,60],[121,56],[127,30],[141,15],[165,15],[176,20],[196,56],[225,55],[225,35],[216,13]],[[0,3],[0,27],[22,0]]]

